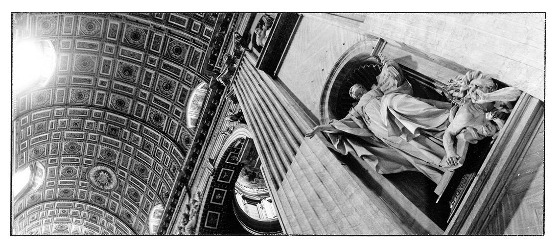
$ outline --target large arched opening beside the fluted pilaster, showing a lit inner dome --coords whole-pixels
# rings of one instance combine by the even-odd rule
[[[206,189],[199,234],[282,233],[260,168],[262,163],[250,137],[246,127],[241,127],[225,141]]]

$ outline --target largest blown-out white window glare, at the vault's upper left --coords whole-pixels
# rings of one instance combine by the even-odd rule
[[[56,65],[50,41],[22,40],[13,46],[13,90],[21,92],[49,82]]]

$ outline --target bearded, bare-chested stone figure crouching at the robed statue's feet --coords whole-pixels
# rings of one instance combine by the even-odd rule
[[[504,120],[494,108],[494,102],[474,101],[473,96],[489,96],[497,89],[492,78],[480,71],[468,71],[464,76],[451,79],[447,95],[454,106],[451,108],[450,125],[444,132],[443,142],[448,168],[463,165],[460,155],[456,154],[455,139],[461,135],[466,142],[476,144],[485,137],[495,135],[503,126]]]

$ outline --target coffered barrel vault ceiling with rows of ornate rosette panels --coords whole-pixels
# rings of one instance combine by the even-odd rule
[[[16,15],[18,35],[57,55],[50,82],[13,99],[13,168],[39,161],[46,174],[13,203],[14,233],[150,233],[203,104],[194,89],[208,83],[198,71],[215,16]]]

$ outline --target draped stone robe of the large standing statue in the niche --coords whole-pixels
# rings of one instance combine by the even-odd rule
[[[451,104],[411,94],[408,82],[387,94],[373,88],[347,117],[330,122],[341,133],[326,133],[341,154],[354,151],[380,174],[420,171],[438,183]]]

